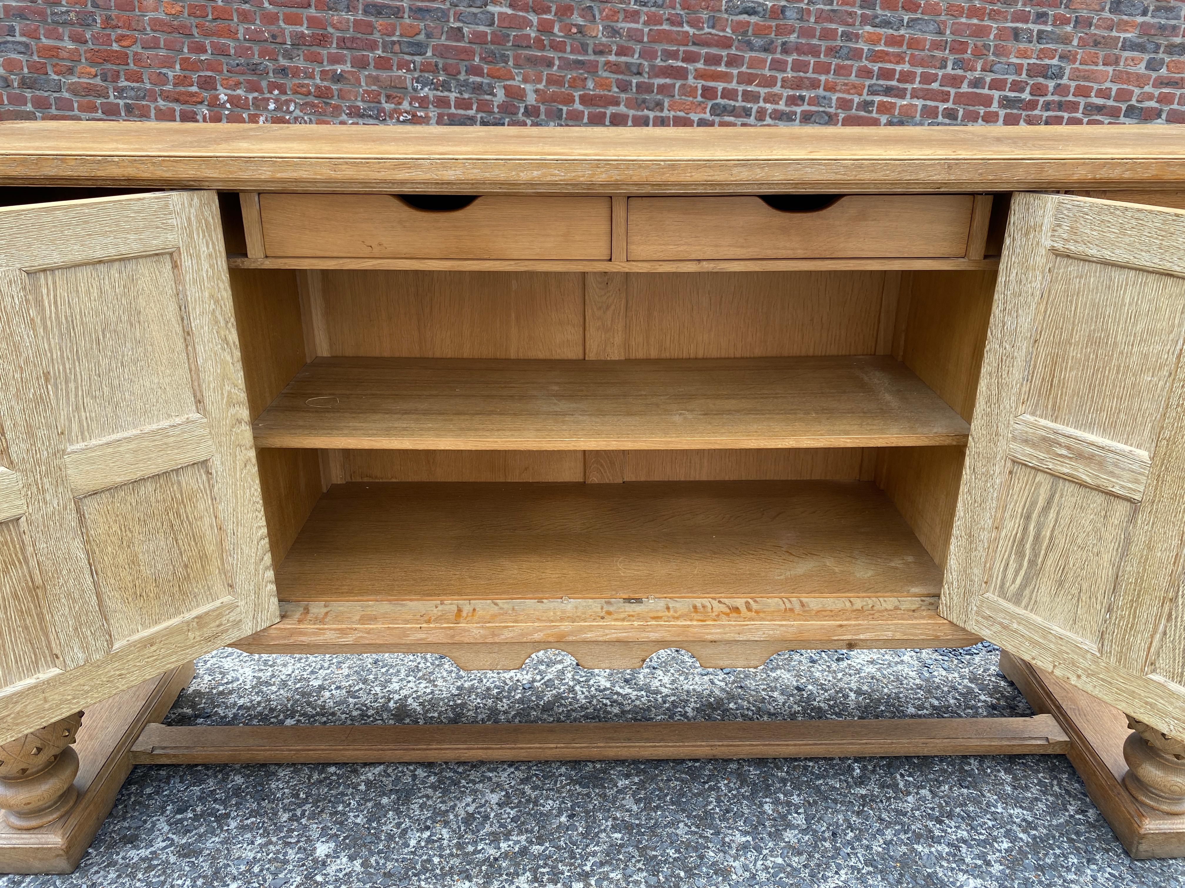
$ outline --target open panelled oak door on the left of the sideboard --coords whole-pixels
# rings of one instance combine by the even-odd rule
[[[278,618],[212,192],[0,210],[0,742]]]

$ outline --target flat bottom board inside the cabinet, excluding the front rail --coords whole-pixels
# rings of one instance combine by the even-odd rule
[[[277,573],[286,601],[934,596],[860,482],[341,484]]]

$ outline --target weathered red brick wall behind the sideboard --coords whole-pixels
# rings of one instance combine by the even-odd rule
[[[1185,123],[1185,0],[0,0],[0,120]]]

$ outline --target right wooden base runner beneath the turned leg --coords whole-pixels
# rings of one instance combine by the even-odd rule
[[[1123,786],[1127,716],[1007,651],[1000,652],[1000,671],[1033,712],[1058,720],[1070,738],[1070,764],[1127,852],[1135,860],[1185,857],[1185,818],[1145,807]]]

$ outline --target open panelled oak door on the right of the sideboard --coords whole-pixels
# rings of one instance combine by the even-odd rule
[[[1185,212],[1012,204],[942,614],[1185,738]]]

